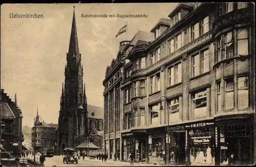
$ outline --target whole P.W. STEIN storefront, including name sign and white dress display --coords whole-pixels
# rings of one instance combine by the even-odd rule
[[[215,123],[205,120],[185,125],[189,165],[215,165]]]

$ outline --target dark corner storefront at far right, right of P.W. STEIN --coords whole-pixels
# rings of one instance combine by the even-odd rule
[[[254,164],[254,127],[254,114],[216,118],[216,131],[218,131],[216,163],[218,165]]]

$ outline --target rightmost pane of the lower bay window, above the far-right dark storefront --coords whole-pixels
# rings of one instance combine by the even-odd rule
[[[238,106],[248,107],[249,104],[248,77],[238,77]]]

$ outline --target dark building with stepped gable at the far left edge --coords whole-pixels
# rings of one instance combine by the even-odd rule
[[[22,145],[24,141],[22,118],[22,110],[17,105],[16,94],[12,101],[4,89],[1,89],[1,145],[11,154],[20,154],[19,151],[25,149]]]

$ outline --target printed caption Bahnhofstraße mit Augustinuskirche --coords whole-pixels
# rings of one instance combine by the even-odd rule
[[[84,18],[147,18],[147,14],[81,14]]]

